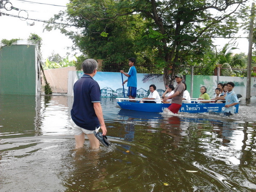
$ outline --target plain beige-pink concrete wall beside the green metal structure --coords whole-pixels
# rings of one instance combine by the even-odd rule
[[[53,93],[67,93],[69,71],[76,71],[74,66],[44,70],[47,82],[50,84]],[[42,77],[42,85],[44,85]]]

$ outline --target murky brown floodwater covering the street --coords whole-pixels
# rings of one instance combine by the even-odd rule
[[[112,146],[74,150],[72,98],[0,95],[0,192],[255,192],[256,99],[239,113],[122,110],[102,98]]]

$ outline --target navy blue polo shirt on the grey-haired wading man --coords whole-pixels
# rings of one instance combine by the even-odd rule
[[[83,75],[74,84],[74,102],[71,118],[81,128],[95,130],[100,122],[93,108],[93,103],[100,102],[100,86],[89,75]]]

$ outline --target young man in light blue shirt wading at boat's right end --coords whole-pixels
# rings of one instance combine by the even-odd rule
[[[226,108],[224,110],[224,115],[230,116],[234,114],[235,105],[238,104],[239,101],[237,98],[237,94],[235,94],[235,92],[233,91],[235,84],[233,82],[228,82],[226,86],[227,86],[228,92],[225,95],[222,95],[216,98],[216,101],[226,100],[226,103],[225,103]]]

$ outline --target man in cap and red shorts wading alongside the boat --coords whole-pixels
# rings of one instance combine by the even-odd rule
[[[177,82],[177,86],[174,89],[174,93],[169,97],[165,97],[163,101],[167,101],[168,99],[172,99],[172,104],[168,107],[168,109],[173,113],[178,113],[180,107],[182,105],[183,93],[185,90],[185,85],[182,83],[183,76],[181,74],[175,75],[175,81]]]

